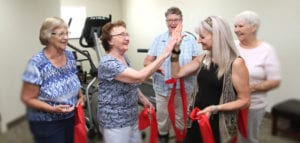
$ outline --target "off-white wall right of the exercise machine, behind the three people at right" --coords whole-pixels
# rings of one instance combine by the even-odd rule
[[[146,54],[137,48],[149,48],[154,37],[167,30],[164,12],[177,6],[183,12],[184,30],[194,32],[194,27],[209,15],[220,15],[232,25],[234,16],[243,10],[256,11],[262,21],[258,37],[271,43],[278,53],[282,84],[269,93],[267,108],[289,98],[300,98],[297,82],[300,77],[300,12],[298,0],[126,0],[123,2],[124,19],[131,35],[129,55],[136,69],[143,66]]]

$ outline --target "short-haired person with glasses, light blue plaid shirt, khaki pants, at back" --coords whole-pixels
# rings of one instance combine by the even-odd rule
[[[178,25],[182,25],[182,12],[177,7],[169,8],[165,12],[165,17],[168,31],[156,37],[151,48],[148,51],[148,55],[144,60],[144,66],[149,65],[163,53],[166,44],[171,39],[172,32],[175,31]],[[179,46],[179,51],[173,51],[173,53],[179,55],[179,63],[182,66],[192,61],[192,59],[199,54],[200,48],[197,46],[196,39],[191,34],[187,32],[181,32],[181,35],[183,35],[184,37],[181,43],[177,44],[177,46]],[[167,109],[172,85],[165,83],[166,80],[171,79],[171,60],[171,57],[166,59],[161,68],[157,70],[156,73],[154,73],[152,76],[153,88],[156,96],[156,114],[158,122],[159,143],[168,142],[169,130],[171,129],[171,122]],[[188,103],[189,101],[191,101],[190,94],[192,93],[194,80],[195,76],[184,78]],[[179,130],[183,130],[185,124],[179,83],[176,87],[174,107],[176,127]]]

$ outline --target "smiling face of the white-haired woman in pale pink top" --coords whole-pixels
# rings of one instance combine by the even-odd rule
[[[255,36],[255,31],[255,26],[250,25],[246,20],[238,20],[234,24],[234,33],[239,41],[244,41],[251,36]]]

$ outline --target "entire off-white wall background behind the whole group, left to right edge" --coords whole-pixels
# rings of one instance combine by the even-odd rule
[[[194,32],[198,22],[209,15],[221,15],[233,25],[234,16],[242,10],[256,11],[262,19],[258,37],[271,43],[282,65],[282,85],[270,93],[270,107],[297,96],[300,77],[299,38],[300,10],[298,0],[0,0],[0,130],[7,123],[24,115],[20,101],[21,75],[28,59],[42,47],[38,30],[48,16],[59,16],[60,6],[86,6],[87,16],[107,16],[124,19],[131,34],[128,54],[136,69],[142,68],[146,54],[137,48],[149,48],[154,37],[167,30],[164,12],[178,6],[184,15],[184,30]],[[76,40],[71,41],[74,44]]]

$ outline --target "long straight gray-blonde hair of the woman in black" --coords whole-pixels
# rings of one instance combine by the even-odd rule
[[[204,67],[209,69],[214,59],[218,65],[218,78],[221,78],[230,69],[232,61],[239,56],[230,26],[223,18],[210,16],[200,22],[196,33],[201,35],[203,29],[212,34],[212,51],[206,54]]]

